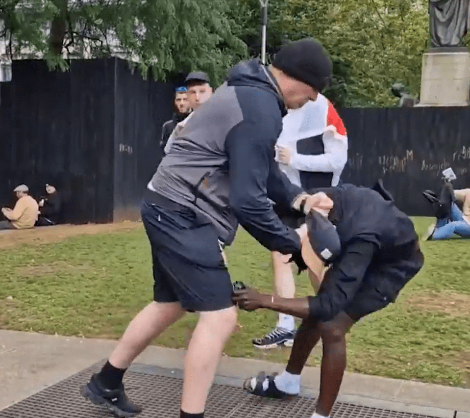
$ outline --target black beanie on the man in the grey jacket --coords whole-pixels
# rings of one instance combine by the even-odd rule
[[[272,65],[319,92],[331,82],[331,59],[322,44],[313,38],[300,39],[284,45],[277,52]]]

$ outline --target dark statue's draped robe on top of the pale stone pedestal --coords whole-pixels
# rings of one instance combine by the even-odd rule
[[[429,0],[431,47],[458,47],[469,31],[470,0]]]

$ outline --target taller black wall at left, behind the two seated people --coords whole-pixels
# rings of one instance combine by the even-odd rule
[[[35,197],[51,183],[66,222],[138,217],[172,114],[171,83],[144,80],[118,58],[73,60],[65,73],[22,60],[0,94],[0,206],[14,204],[20,183]]]

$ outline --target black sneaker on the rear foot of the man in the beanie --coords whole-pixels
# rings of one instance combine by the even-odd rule
[[[124,392],[124,385],[119,389],[105,389],[94,374],[90,381],[81,388],[80,393],[95,405],[106,407],[116,417],[128,418],[142,412],[142,408],[134,405]]]

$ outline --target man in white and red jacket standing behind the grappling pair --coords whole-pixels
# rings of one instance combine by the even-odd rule
[[[319,94],[301,108],[290,110],[282,121],[282,132],[276,144],[276,160],[291,183],[309,190],[317,187],[336,186],[347,161],[346,128],[338,112]],[[305,220],[295,211],[283,211],[274,206],[284,224],[298,228]],[[280,297],[295,296],[295,281],[289,258],[272,252],[272,268],[275,291]],[[319,260],[317,271],[308,270],[310,280],[318,289],[323,266]],[[295,337],[294,317],[279,313],[276,327],[262,338],[253,340],[258,348],[292,346]]]

